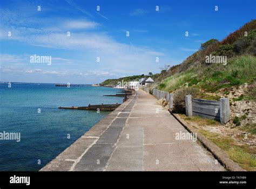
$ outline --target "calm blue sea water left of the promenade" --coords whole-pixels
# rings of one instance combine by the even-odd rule
[[[117,91],[110,87],[12,83],[8,88],[8,84],[0,84],[0,132],[21,132],[20,142],[0,140],[0,171],[42,168],[108,114],[58,107],[122,103],[122,97],[102,96]]]

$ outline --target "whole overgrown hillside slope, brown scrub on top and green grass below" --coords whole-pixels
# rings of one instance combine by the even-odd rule
[[[227,63],[206,64],[206,56],[227,56]],[[223,41],[210,39],[201,49],[182,64],[172,66],[160,74],[158,89],[173,92],[181,87],[193,86],[205,92],[225,89],[228,95],[233,86],[252,84],[256,78],[256,20],[245,24]],[[203,95],[201,95],[203,96]],[[251,89],[243,98],[255,99],[256,90]],[[211,99],[211,97],[208,97]],[[217,99],[213,97],[213,99]]]

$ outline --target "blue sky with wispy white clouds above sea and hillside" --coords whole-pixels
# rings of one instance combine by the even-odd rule
[[[1,0],[0,81],[91,84],[159,73],[255,19],[255,2]],[[33,55],[51,56],[51,65],[30,63]]]

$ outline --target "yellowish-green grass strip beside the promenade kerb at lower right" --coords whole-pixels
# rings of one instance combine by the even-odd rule
[[[199,130],[201,134],[213,141],[217,146],[223,149],[228,156],[237,162],[242,168],[247,171],[253,171],[256,168],[256,158],[253,154],[256,153],[255,146],[237,145],[230,137],[221,136],[219,133]]]

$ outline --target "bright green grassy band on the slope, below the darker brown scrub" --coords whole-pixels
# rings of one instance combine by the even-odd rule
[[[254,82],[255,70],[256,57],[242,55],[228,59],[227,65],[199,65],[197,69],[191,68],[174,74],[165,78],[158,89],[172,92],[184,87],[187,83],[188,86],[198,87],[206,92],[215,92],[222,88],[226,88],[228,91],[227,89],[232,86]],[[255,90],[253,93],[255,94]]]

